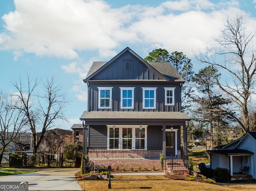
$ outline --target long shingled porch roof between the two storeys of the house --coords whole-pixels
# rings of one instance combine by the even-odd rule
[[[128,121],[129,123],[141,123],[149,124],[151,122],[164,123],[174,121],[189,121],[190,117],[184,112],[173,112],[173,111],[84,111],[80,120],[87,122],[109,122],[112,124],[113,121],[117,125],[118,122]],[[142,123],[144,122],[144,123]],[[87,123],[88,124],[88,123]],[[174,125],[174,124],[173,124]]]

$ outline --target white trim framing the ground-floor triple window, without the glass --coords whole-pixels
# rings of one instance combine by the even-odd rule
[[[113,128],[113,125],[107,125],[108,127],[108,150],[113,150],[113,149],[110,149],[109,147],[109,129],[110,128]],[[146,150],[147,149],[147,127],[148,125],[142,125],[142,128],[145,128],[145,149],[135,149],[135,129],[136,128],[140,128],[140,125],[115,125],[115,128],[119,128],[119,144],[118,144],[118,147],[121,149],[121,150]],[[132,149],[123,149],[123,137],[122,137],[122,128],[132,128]]]

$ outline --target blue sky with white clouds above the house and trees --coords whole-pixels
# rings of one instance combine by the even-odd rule
[[[0,90],[26,75],[54,76],[72,101],[70,129],[87,109],[82,81],[94,61],[108,61],[127,46],[145,58],[156,48],[194,52],[212,44],[227,16],[243,14],[256,28],[256,0],[2,0]]]

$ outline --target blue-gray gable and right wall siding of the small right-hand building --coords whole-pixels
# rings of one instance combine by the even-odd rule
[[[254,153],[254,155],[248,156],[248,166],[250,175],[253,176],[253,178],[256,178],[256,140],[252,138],[250,135],[247,135],[242,139],[242,141],[239,143],[239,145],[236,147],[237,149],[245,149],[247,151],[251,151]]]

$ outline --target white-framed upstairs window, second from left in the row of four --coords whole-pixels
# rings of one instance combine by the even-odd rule
[[[120,87],[121,109],[134,108],[134,88]]]

